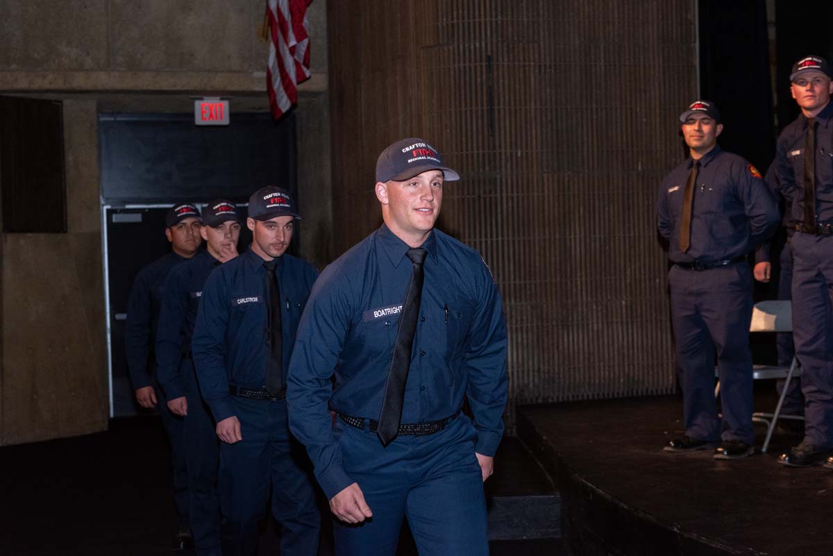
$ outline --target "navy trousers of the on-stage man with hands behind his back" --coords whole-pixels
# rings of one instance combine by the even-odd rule
[[[693,439],[752,444],[752,276],[746,263],[668,274],[683,419]],[[715,400],[715,351],[723,424]]]

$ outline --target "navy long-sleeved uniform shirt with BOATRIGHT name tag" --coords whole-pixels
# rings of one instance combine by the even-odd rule
[[[507,394],[501,295],[470,247],[437,230],[422,247],[425,282],[402,423],[454,415],[467,394],[476,451],[491,456],[503,434]],[[379,419],[411,278],[408,249],[384,225],[353,246],[322,272],[298,328],[287,384],[290,427],[307,445],[327,498],[354,482],[342,467],[328,405]]]

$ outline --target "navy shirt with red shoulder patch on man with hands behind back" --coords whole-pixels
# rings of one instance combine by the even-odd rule
[[[683,191],[691,157],[660,186],[657,230],[669,241],[672,262],[711,262],[746,256],[778,226],[778,204],[757,171],[741,156],[715,146],[700,159],[691,214],[691,246],[680,251]]]

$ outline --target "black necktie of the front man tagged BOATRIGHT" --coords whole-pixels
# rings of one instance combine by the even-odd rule
[[[397,343],[393,346],[391,368],[387,371],[385,398],[382,400],[382,413],[379,415],[379,439],[382,444],[390,444],[399,432],[402,419],[402,403],[405,401],[405,383],[408,380],[408,368],[411,366],[411,350],[416,332],[416,317],[419,316],[419,302],[422,297],[422,262],[428,251],[409,249],[407,256],[411,259],[411,280],[405,290],[402,311],[399,313]]]

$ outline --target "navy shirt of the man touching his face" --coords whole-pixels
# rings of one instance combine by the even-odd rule
[[[185,395],[187,377],[179,375],[182,355],[191,350],[202,286],[220,266],[208,251],[171,269],[162,286],[162,306],[156,336],[157,380],[168,400]]]

